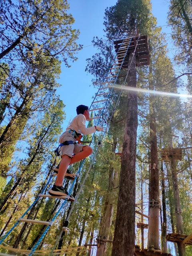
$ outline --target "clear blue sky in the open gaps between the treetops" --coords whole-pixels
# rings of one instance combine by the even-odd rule
[[[169,42],[168,47],[175,48],[171,42],[170,26],[167,24],[168,0],[152,0],[152,13],[157,18],[157,26],[162,26],[162,32],[167,34]],[[83,44],[84,48],[78,53],[78,60],[72,63],[71,68],[66,68],[62,64],[62,74],[58,82],[62,86],[58,89],[57,93],[63,100],[66,108],[66,120],[64,121],[64,130],[70,119],[76,115],[76,106],[84,104],[90,106],[92,96],[97,91],[91,85],[92,75],[85,72],[86,59],[90,58],[96,49],[92,46],[92,39],[94,36],[102,37],[104,11],[106,7],[116,4],[116,0],[73,0],[70,3],[70,13],[75,19],[74,28],[80,30],[78,43]],[[170,55],[172,50],[170,50]]]

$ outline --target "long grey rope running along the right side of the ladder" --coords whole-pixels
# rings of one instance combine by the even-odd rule
[[[139,38],[138,38],[138,40],[139,40]],[[132,60],[133,60],[133,57],[134,57],[134,54],[135,54],[135,51],[136,51],[136,47],[137,47],[137,44],[138,44],[138,40],[137,40],[137,43],[136,43],[136,46],[135,46],[135,49],[134,49],[134,53],[133,53],[133,56],[132,56]],[[132,64],[132,60],[131,60],[130,66],[131,66],[131,64]],[[128,76],[129,70],[130,70],[130,66],[129,66],[129,68],[128,68],[126,78],[125,78],[125,80],[124,80],[124,84],[125,84],[125,82],[126,82],[126,79],[127,79],[127,76]],[[116,110],[116,107],[117,107],[117,105],[118,105],[118,102],[119,102],[119,99],[120,99],[120,95],[121,95],[121,94],[122,94],[122,90],[121,90],[121,92],[120,92],[120,94],[119,94],[119,96],[118,96],[118,100],[117,100],[117,102],[116,102],[115,108],[114,108],[114,110],[113,110],[113,112],[112,112],[112,114],[111,114],[111,116],[110,116],[110,120],[109,120],[109,122],[108,122],[108,126],[109,126],[110,121],[111,121],[111,119],[112,119],[112,116],[113,116],[113,114],[114,114],[114,112],[115,112],[115,110]],[[107,126],[107,128],[108,128],[108,126]],[[105,133],[102,135],[101,141],[103,140],[104,136],[105,136]],[[92,136],[92,139],[93,139],[93,137],[94,137],[94,135]],[[90,144],[91,144],[91,142],[90,142]],[[70,218],[70,215],[71,215],[71,213],[72,213],[72,210],[73,210],[73,208],[74,208],[74,206],[75,206],[75,203],[76,203],[76,201],[77,201],[77,199],[78,199],[78,196],[79,196],[79,194],[80,194],[80,192],[81,192],[81,190],[82,190],[82,187],[84,186],[84,183],[85,183],[85,181],[86,181],[86,178],[87,178],[87,176],[88,176],[88,173],[89,173],[89,171],[90,171],[90,169],[91,169],[91,167],[92,167],[92,164],[93,164],[93,162],[94,162],[94,160],[95,160],[95,158],[96,158],[96,155],[98,154],[98,150],[99,150],[99,147],[97,148],[96,153],[95,153],[95,155],[94,155],[94,158],[92,159],[92,162],[90,163],[90,166],[89,166],[89,168],[88,168],[88,170],[87,170],[87,172],[86,172],[86,174],[85,174],[85,177],[84,177],[83,181],[81,182],[81,186],[80,186],[80,188],[79,188],[79,190],[78,190],[78,193],[77,193],[76,196],[75,196],[75,200],[74,200],[74,202],[73,202],[73,204],[72,204],[72,206],[71,206],[71,209],[70,209],[70,212],[69,212],[69,214],[68,214],[68,216],[67,216],[67,218],[66,218],[66,221],[68,221],[69,218]],[[82,164],[81,164],[81,166],[80,166],[79,169],[82,168],[82,165],[84,164],[84,161],[85,161],[85,159],[83,160],[83,162],[82,162]],[[71,192],[72,192],[72,191],[70,191],[70,193],[71,193]],[[50,256],[52,255],[53,251],[55,250],[56,245],[57,245],[57,243],[58,243],[58,241],[59,241],[59,239],[60,239],[62,233],[63,233],[63,230],[60,232],[60,234],[59,234],[59,236],[58,236],[58,239],[56,240],[56,242],[55,242],[55,244],[54,244],[54,247],[52,248],[52,252],[51,252]]]

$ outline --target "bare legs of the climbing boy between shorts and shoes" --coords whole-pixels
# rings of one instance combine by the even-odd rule
[[[93,150],[90,146],[86,146],[82,148],[82,151],[79,152],[78,154],[74,155],[72,158],[70,156],[64,155],[61,158],[61,162],[59,164],[59,170],[58,170],[58,175],[55,181],[56,186],[62,186],[63,185],[63,179],[66,174],[66,171],[68,169],[68,166],[70,164],[74,164],[92,154]]]

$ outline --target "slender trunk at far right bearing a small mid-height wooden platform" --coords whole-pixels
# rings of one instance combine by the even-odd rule
[[[172,137],[170,141],[170,147],[171,148],[173,147]],[[172,173],[172,181],[173,181],[173,198],[174,198],[174,204],[175,204],[176,232],[179,234],[183,234],[183,222],[182,222],[182,212],[181,212],[181,204],[180,204],[180,197],[179,197],[176,162],[175,162],[175,159],[173,159],[172,157],[170,157],[170,160],[171,160],[171,173]],[[179,256],[186,256],[185,245],[182,242],[178,242],[177,246],[178,246]]]

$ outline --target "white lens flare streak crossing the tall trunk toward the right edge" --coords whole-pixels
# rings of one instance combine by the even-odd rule
[[[126,91],[131,91],[131,92],[143,92],[143,93],[169,96],[169,97],[192,98],[192,95],[188,95],[188,94],[179,94],[179,93],[174,93],[174,92],[160,92],[160,91],[147,90],[147,89],[142,89],[142,88],[134,88],[134,87],[130,87],[130,86],[122,86],[120,84],[116,84],[114,86],[109,86],[109,87],[113,87],[116,90],[126,90]]]

